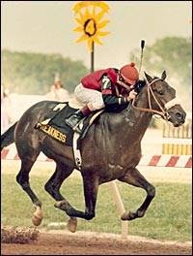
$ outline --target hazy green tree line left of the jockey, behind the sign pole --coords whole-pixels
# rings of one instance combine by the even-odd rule
[[[2,81],[12,92],[44,94],[49,91],[56,73],[60,74],[65,89],[73,92],[88,69],[82,61],[71,61],[60,54],[2,52]]]

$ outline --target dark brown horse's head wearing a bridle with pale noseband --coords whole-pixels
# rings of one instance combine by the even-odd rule
[[[162,118],[172,122],[175,127],[183,124],[186,113],[183,111],[176,98],[176,90],[166,81],[166,72],[161,79],[152,78],[145,73],[148,85],[149,108],[158,113]]]

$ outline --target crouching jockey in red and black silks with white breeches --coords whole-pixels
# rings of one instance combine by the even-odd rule
[[[137,94],[134,86],[138,80],[139,73],[133,62],[124,65],[120,70],[102,69],[84,77],[75,87],[74,94],[85,106],[70,115],[66,123],[80,133],[77,124],[91,112],[103,108],[113,110],[127,106],[127,103]]]

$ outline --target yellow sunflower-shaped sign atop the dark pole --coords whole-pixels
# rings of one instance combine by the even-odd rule
[[[96,10],[97,8],[99,11]],[[78,26],[73,31],[82,33],[76,43],[87,41],[91,51],[93,51],[93,43],[102,45],[99,37],[109,34],[107,31],[100,30],[109,22],[108,19],[102,19],[108,9],[108,5],[101,1],[83,1],[73,7],[75,19],[78,22]]]

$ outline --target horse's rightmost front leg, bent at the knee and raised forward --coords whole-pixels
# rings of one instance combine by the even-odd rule
[[[128,170],[124,176],[119,178],[119,180],[136,187],[144,188],[147,192],[147,197],[141,207],[138,208],[135,212],[124,212],[124,214],[122,215],[122,220],[132,220],[135,218],[143,217],[155,195],[154,186],[150,182],[148,182],[148,180],[144,176],[142,176],[136,168]]]

